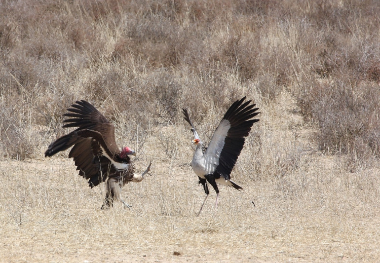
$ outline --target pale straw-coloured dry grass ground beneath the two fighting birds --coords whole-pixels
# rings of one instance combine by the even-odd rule
[[[184,126],[150,130],[159,135],[146,138],[137,164],[153,159],[154,175],[125,187],[131,211],[100,210],[104,186],[90,190],[67,159],[3,161],[0,253],[13,262],[377,261],[378,167],[348,173],[309,145],[307,127],[294,134],[300,117],[275,124],[284,110],[257,125],[265,155],[247,141],[233,174],[244,191],[222,187],[216,211],[212,192],[201,216]]]

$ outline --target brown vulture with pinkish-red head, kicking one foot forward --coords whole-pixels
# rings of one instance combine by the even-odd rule
[[[77,101],[67,109],[63,127],[78,127],[67,135],[52,142],[45,157],[71,148],[68,155],[73,158],[79,174],[88,179],[90,187],[106,182],[106,196],[102,209],[113,205],[114,200],[121,200],[121,189],[129,181],[139,182],[149,171],[137,175],[128,155],[134,154],[124,147],[120,151],[115,140],[115,126],[110,123],[93,105],[85,100]]]

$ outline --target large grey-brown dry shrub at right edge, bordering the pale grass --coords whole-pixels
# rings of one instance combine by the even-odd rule
[[[378,155],[379,98],[377,85],[347,78],[315,82],[297,103],[306,119],[318,125],[316,139],[323,151],[361,158]]]

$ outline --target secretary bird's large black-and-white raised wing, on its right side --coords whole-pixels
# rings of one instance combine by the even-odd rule
[[[230,173],[236,164],[252,125],[258,119],[252,119],[259,112],[256,104],[246,101],[246,97],[235,101],[225,113],[216,128],[204,153],[206,160],[216,160],[216,170],[224,179],[229,180]]]

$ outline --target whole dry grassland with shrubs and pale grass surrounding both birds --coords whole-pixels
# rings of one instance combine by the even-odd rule
[[[378,1],[0,0],[0,262],[380,261]],[[233,170],[204,199],[189,110],[208,141],[225,110],[260,107]],[[93,103],[138,152],[100,209],[68,152]],[[254,205],[252,204],[254,202]]]

